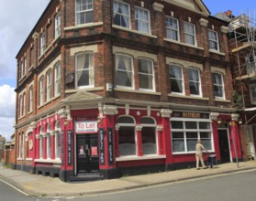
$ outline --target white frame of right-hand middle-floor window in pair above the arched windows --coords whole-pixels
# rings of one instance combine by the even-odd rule
[[[151,73],[148,71],[148,72],[142,72],[139,70],[139,60],[141,61],[146,61],[147,63],[150,62],[150,68],[151,68]],[[155,78],[154,78],[154,63],[152,60],[148,59],[148,58],[138,58],[138,75],[139,75],[139,90],[150,90],[150,91],[153,91],[155,90]],[[150,88],[142,88],[141,85],[140,85],[140,80],[141,80],[141,76],[146,76],[148,77],[149,81],[151,82],[151,89]]]

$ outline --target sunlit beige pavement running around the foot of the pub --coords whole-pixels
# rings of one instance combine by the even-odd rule
[[[213,175],[227,175],[244,171],[256,171],[256,162],[218,164],[213,168],[196,170],[187,168],[148,175],[123,176],[117,179],[93,182],[64,183],[59,178],[32,175],[0,165],[0,180],[12,185],[28,196],[83,196],[113,193],[152,185],[204,178]]]

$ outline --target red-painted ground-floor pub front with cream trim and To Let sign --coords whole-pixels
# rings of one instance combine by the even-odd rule
[[[238,118],[128,104],[66,106],[17,135],[16,168],[62,181],[190,168],[198,139],[218,163],[236,162],[242,160]]]

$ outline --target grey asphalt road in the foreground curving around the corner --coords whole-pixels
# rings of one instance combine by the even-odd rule
[[[256,197],[256,171],[211,176],[119,193],[79,197],[29,197],[0,181],[1,201],[251,201]]]

